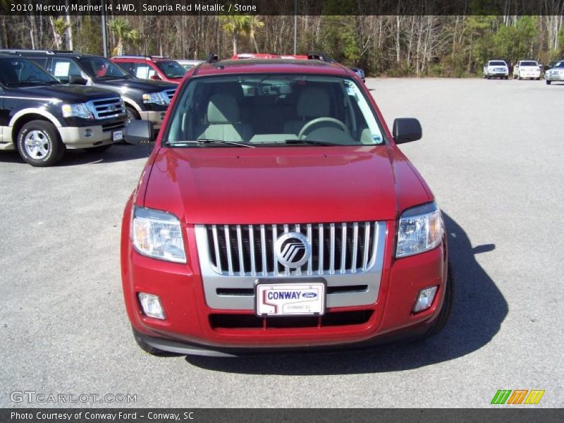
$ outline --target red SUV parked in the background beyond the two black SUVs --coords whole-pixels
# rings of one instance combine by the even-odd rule
[[[162,56],[115,56],[110,59],[135,78],[180,83],[186,69]]]

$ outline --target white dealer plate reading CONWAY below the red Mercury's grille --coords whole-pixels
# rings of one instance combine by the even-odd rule
[[[259,316],[324,314],[325,283],[257,283],[255,292]]]

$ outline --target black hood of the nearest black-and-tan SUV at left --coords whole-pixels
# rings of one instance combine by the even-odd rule
[[[19,87],[18,97],[56,99],[65,103],[84,103],[94,99],[116,97],[116,92],[99,87],[84,87],[82,85],[36,85],[33,87]]]

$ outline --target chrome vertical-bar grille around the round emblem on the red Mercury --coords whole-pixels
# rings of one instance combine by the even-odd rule
[[[212,269],[223,276],[312,276],[366,271],[374,255],[374,222],[292,225],[209,225],[207,250]],[[312,254],[300,267],[276,259],[274,244],[283,233],[305,235]]]

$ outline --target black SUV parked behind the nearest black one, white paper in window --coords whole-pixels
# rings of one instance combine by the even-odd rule
[[[155,129],[160,127],[177,87],[171,82],[134,78],[102,56],[76,51],[4,51],[32,59],[61,82],[93,85],[118,92],[125,102],[128,120],[150,121]]]

